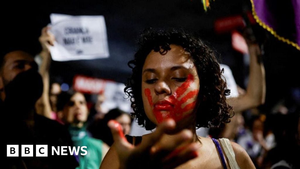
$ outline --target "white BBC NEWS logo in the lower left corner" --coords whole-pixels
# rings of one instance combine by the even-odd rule
[[[51,155],[87,155],[86,146],[52,146]],[[33,145],[21,145],[22,157],[33,157]],[[48,157],[48,145],[36,145],[35,146],[36,157]],[[7,157],[19,157],[19,145],[7,145]]]

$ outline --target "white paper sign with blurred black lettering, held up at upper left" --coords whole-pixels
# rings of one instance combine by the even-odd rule
[[[103,16],[51,14],[50,31],[55,36],[50,48],[55,61],[86,60],[109,57]]]

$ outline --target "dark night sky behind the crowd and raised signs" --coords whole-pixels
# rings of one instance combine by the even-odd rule
[[[98,78],[126,82],[131,74],[127,62],[133,58],[137,48],[136,39],[140,31],[147,27],[182,27],[196,31],[208,41],[220,61],[232,69],[236,82],[243,84],[247,68],[243,57],[231,47],[230,33],[216,35],[214,21],[220,17],[241,15],[250,11],[250,0],[211,2],[211,9],[203,10],[200,0],[86,0],[86,1],[36,1],[1,2],[1,35],[7,39],[30,46],[35,53],[41,49],[38,37],[46,26],[50,13],[70,15],[104,15],[109,42],[110,57],[98,60],[52,62],[51,80],[72,84],[73,75],[83,74]],[[288,11],[283,9],[283,14]],[[292,88],[299,88],[300,51],[278,41],[262,29],[259,33],[266,37],[266,104],[268,110],[282,98],[289,99]],[[4,45],[5,46],[5,45]]]

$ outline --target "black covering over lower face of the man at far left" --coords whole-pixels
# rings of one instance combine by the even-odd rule
[[[21,72],[5,87],[4,105],[7,110],[29,110],[43,93],[41,75],[33,69]]]

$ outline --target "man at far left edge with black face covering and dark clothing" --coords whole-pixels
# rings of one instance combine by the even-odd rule
[[[19,50],[21,49],[21,50]],[[2,115],[3,149],[6,145],[71,146],[67,130],[35,113],[35,103],[43,92],[43,81],[37,64],[24,48],[1,51],[0,56],[0,112]],[[33,150],[35,151],[35,149]],[[20,152],[20,151],[19,151]],[[48,157],[5,158],[1,168],[75,168],[72,155]]]

